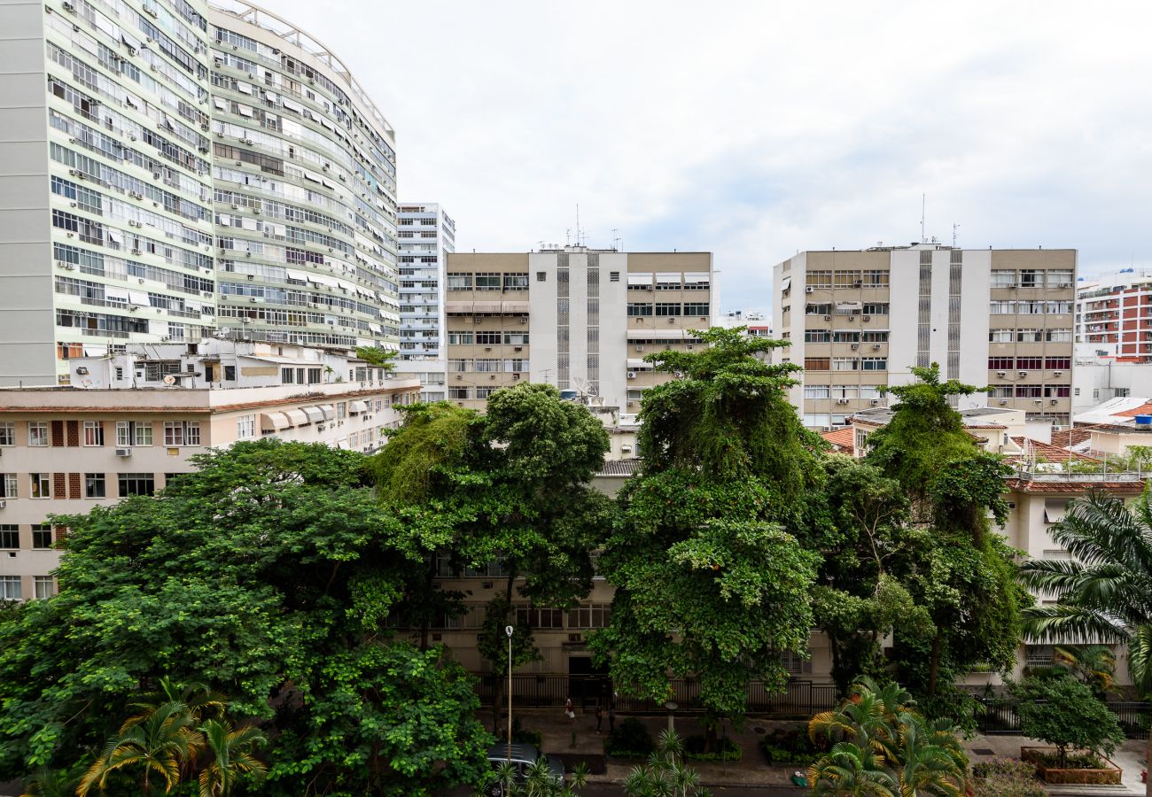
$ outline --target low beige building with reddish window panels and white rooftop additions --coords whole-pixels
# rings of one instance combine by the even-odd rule
[[[0,599],[55,589],[51,514],[151,494],[238,440],[373,451],[419,393],[347,352],[259,342],[135,344],[69,366],[71,386],[0,389]]]

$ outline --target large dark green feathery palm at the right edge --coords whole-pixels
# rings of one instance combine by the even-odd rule
[[[1074,559],[1028,560],[1021,580],[1053,592],[1054,606],[1024,612],[1024,632],[1041,642],[1128,645],[1128,670],[1142,697],[1152,696],[1152,502],[1149,491],[1123,500],[1091,493],[1068,504],[1049,530]],[[1149,741],[1152,761],[1152,739]],[[1152,779],[1147,795],[1152,797]]]

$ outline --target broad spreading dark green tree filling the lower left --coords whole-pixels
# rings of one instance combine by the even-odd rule
[[[364,461],[242,442],[197,457],[160,495],[58,518],[71,527],[60,594],[0,621],[0,775],[70,764],[167,675],[229,694],[237,716],[295,712],[305,731],[276,739],[264,794],[476,782],[485,736],[467,674],[385,628],[419,549]],[[332,719],[349,706],[406,728],[403,744]],[[438,759],[381,766],[399,746]]]

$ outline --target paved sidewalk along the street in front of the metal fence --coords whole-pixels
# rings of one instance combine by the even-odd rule
[[[596,716],[592,713],[576,712],[576,721],[573,722],[563,715],[561,708],[523,708],[514,713],[520,719],[526,730],[537,730],[544,735],[541,747],[544,752],[564,756],[589,756],[604,757],[604,739],[608,735],[608,719],[604,718],[602,733],[596,733]],[[491,711],[479,714],[486,724],[492,721]],[[616,722],[622,722],[626,715],[616,716]],[[638,716],[651,731],[653,738],[658,738],[660,731],[668,727],[667,716]],[[681,738],[694,734],[702,734],[703,729],[694,716],[677,716],[674,720],[676,733]],[[736,731],[728,727],[728,738],[743,750],[743,758],[740,761],[728,761],[725,764],[703,764],[690,761],[690,766],[700,775],[704,785],[715,787],[791,787],[789,780],[793,772],[804,767],[771,766],[765,762],[764,753],[760,752],[759,741],[765,733],[771,734],[775,728],[795,728],[806,724],[797,720],[761,720],[749,718],[742,731]],[[986,761],[998,756],[1020,757],[1022,745],[1043,745],[1043,742],[1034,742],[1023,736],[984,736],[978,735],[964,743],[968,758],[971,764]],[[1123,784],[1129,795],[1143,795],[1144,784],[1140,782],[1140,771],[1144,768],[1144,753],[1146,742],[1131,739],[1126,742],[1112,756],[1116,766],[1123,769]],[[990,756],[987,752],[992,751]],[[616,762],[605,759],[606,768],[604,774],[590,776],[593,783],[622,783],[639,761]],[[795,787],[793,787],[795,788]],[[1099,789],[1099,787],[1097,788]],[[795,788],[797,795],[805,790]],[[1053,789],[1053,794],[1061,795],[1079,794],[1077,790],[1066,791]],[[1089,790],[1086,794],[1094,794]],[[1109,795],[1126,794],[1117,789],[1109,790]]]

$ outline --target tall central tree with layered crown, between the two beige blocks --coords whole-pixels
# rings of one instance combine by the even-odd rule
[[[795,365],[780,341],[697,333],[702,351],[650,355],[677,375],[646,392],[643,471],[621,492],[600,566],[616,587],[592,647],[621,691],[664,700],[668,676],[697,676],[714,720],[740,718],[748,683],[782,684],[785,651],[804,652],[817,554],[805,496],[816,445],[788,404]]]

